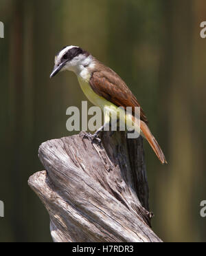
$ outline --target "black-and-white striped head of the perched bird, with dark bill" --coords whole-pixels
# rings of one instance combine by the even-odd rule
[[[78,46],[64,47],[55,56],[54,70],[50,78],[54,77],[58,72],[69,70],[79,72],[82,67],[87,67],[91,63],[92,56],[89,52],[82,50]]]

